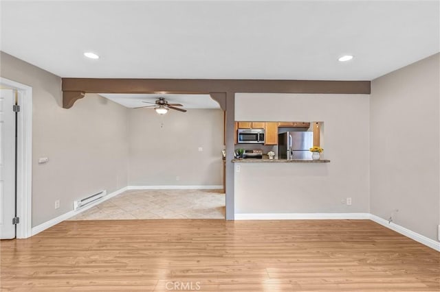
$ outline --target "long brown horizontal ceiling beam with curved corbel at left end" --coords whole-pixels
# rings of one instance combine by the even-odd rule
[[[63,78],[63,108],[85,93],[340,93],[369,94],[369,81]],[[67,93],[66,93],[67,92]],[[74,93],[76,92],[76,93]],[[64,94],[66,93],[66,94]],[[64,100],[66,99],[66,101]]]

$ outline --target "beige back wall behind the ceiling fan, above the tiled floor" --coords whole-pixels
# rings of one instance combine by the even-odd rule
[[[152,109],[129,110],[129,145],[131,186],[223,183],[222,110],[170,110],[163,116]]]

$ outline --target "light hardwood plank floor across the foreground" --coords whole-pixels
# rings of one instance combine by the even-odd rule
[[[439,265],[369,220],[64,221],[1,241],[1,291],[439,291]]]

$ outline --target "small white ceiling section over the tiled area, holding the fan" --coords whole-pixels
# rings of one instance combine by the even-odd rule
[[[210,95],[164,95],[164,94],[119,94],[100,93],[102,97],[115,101],[126,108],[138,108],[140,106],[153,106],[142,101],[155,102],[159,97],[164,97],[169,104],[181,104],[179,108],[220,108],[219,103],[214,101]]]

